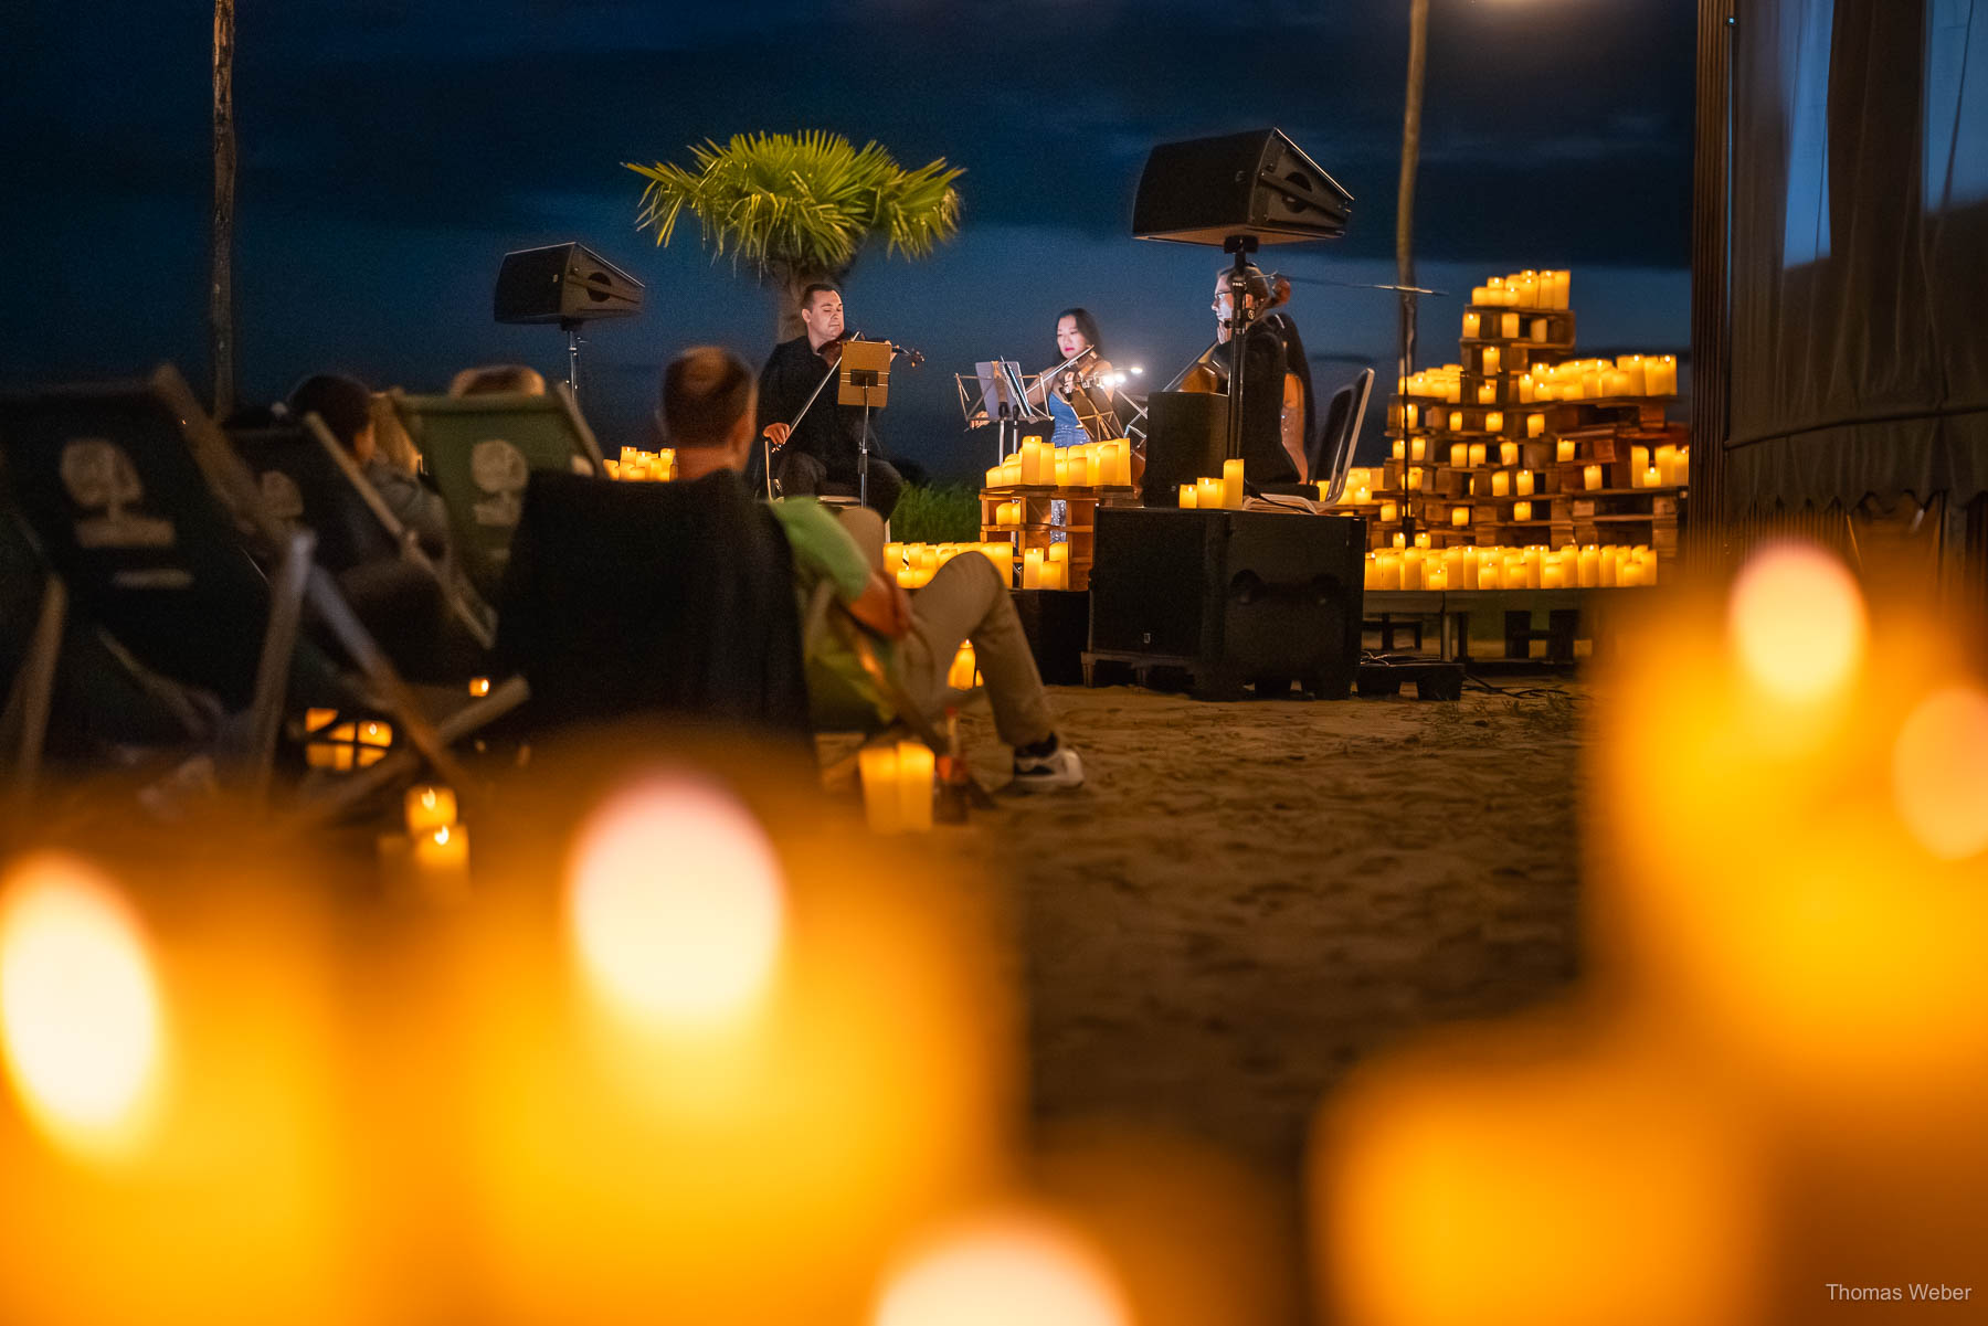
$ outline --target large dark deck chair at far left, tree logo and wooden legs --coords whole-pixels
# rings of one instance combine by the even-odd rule
[[[24,678],[54,666],[46,650],[74,604],[145,670],[231,716],[213,753],[254,801],[268,791],[286,698],[374,708],[419,759],[463,781],[447,738],[316,565],[316,537],[268,515],[256,479],[171,366],[145,382],[0,396],[0,469],[8,507],[64,586],[44,600]],[[300,630],[306,602],[356,678]],[[505,688],[481,704],[495,716],[519,700]],[[384,759],[324,805],[350,805],[414,763]]]

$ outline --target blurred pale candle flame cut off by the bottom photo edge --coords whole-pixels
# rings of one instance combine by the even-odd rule
[[[1042,1217],[988,1217],[909,1260],[873,1326],[1129,1326],[1113,1274]]]

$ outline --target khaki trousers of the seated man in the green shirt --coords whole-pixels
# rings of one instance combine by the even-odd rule
[[[841,513],[871,567],[883,569],[883,519],[849,507]],[[1056,732],[1050,698],[1036,672],[1022,618],[994,565],[978,553],[960,555],[911,596],[911,634],[897,642],[897,680],[911,702],[936,718],[946,700],[946,672],[960,640],[972,640],[974,662],[994,706],[994,732],[1008,746],[1036,746]]]

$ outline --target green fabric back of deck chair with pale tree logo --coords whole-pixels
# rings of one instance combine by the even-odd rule
[[[501,594],[531,477],[606,473],[563,382],[547,396],[398,396],[394,408],[449,507],[455,555],[489,602]]]

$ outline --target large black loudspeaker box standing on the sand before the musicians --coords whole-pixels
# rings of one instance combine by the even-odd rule
[[[1181,666],[1209,700],[1262,680],[1352,690],[1360,517],[1099,507],[1093,557],[1091,660]]]

